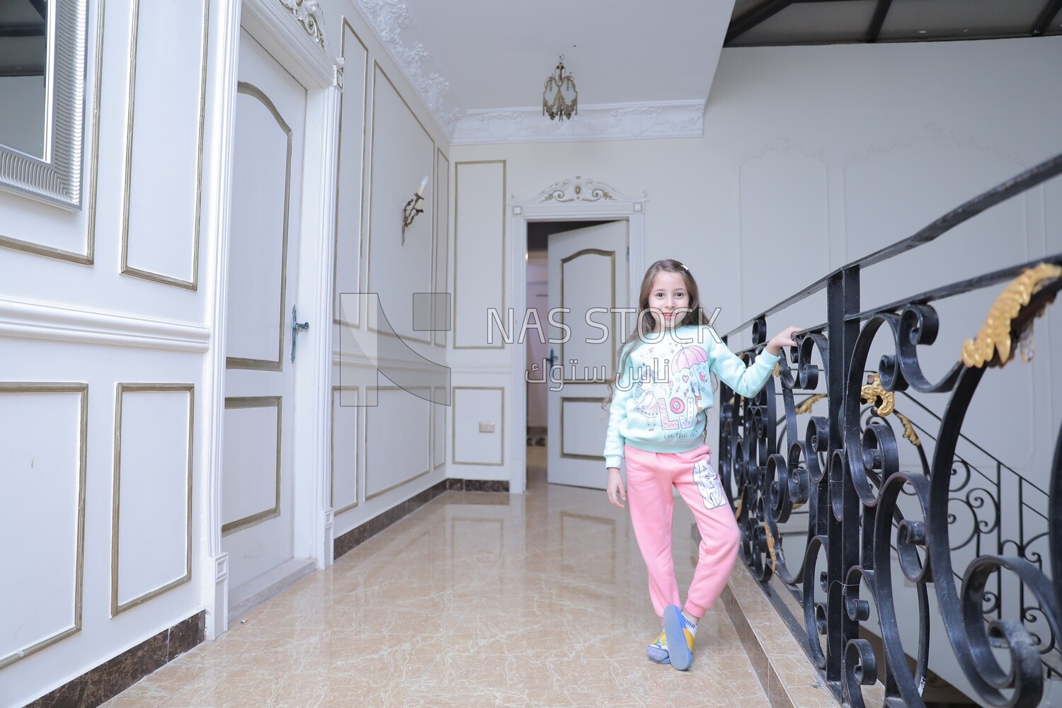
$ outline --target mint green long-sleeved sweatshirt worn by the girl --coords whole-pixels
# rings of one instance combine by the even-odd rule
[[[781,359],[765,350],[746,366],[706,325],[653,332],[628,349],[609,409],[605,467],[619,467],[624,444],[648,452],[695,449],[713,405],[710,375],[751,398]]]

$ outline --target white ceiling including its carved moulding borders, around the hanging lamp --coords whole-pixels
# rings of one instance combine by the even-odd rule
[[[699,136],[734,0],[356,0],[455,143]],[[564,54],[571,121],[542,117]]]

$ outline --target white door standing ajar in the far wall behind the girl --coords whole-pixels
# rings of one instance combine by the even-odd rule
[[[601,451],[607,413],[601,401],[615,376],[615,358],[634,317],[615,312],[628,301],[628,222],[615,221],[549,237],[549,309],[569,330],[552,345],[558,355],[548,385],[547,479],[604,488]],[[560,308],[570,310],[564,312]],[[592,323],[587,323],[587,318]],[[552,327],[551,339],[564,338]]]

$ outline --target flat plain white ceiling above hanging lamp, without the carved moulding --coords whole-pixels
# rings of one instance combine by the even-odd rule
[[[698,99],[734,0],[406,0],[465,110],[542,107],[560,54],[580,105]]]

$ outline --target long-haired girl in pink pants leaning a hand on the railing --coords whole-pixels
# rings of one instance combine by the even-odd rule
[[[759,393],[784,346],[795,346],[788,327],[746,367],[708,325],[689,269],[675,260],[649,266],[638,295],[637,326],[620,349],[616,383],[605,400],[604,445],[609,501],[623,508],[649,569],[649,595],[664,632],[649,658],[685,671],[692,661],[697,623],[715,604],[734,567],[739,532],[704,445],[715,374],[741,396]],[[619,473],[627,461],[627,491]],[[700,557],[684,609],[671,557],[674,487],[701,532]]]

